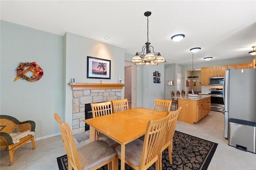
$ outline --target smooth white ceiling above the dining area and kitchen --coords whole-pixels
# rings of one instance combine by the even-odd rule
[[[147,41],[155,52],[178,64],[251,56],[256,45],[256,1],[0,1],[1,20],[64,35],[66,32],[109,43],[135,55]],[[184,34],[180,42],[170,38]],[[104,40],[108,36],[109,40]]]

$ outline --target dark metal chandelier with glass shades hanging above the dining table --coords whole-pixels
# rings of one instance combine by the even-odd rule
[[[150,11],[147,11],[144,13],[144,16],[147,17],[151,15]],[[148,23],[147,23],[148,26]],[[148,28],[148,27],[147,27]],[[148,31],[148,30],[147,30]],[[148,38],[148,33],[147,33],[147,38]],[[158,63],[163,63],[166,60],[164,57],[161,56],[161,54],[158,52],[154,52],[154,47],[150,45],[150,42],[146,42],[146,45],[142,47],[142,51],[140,53],[136,52],[136,55],[132,58],[132,62],[134,62],[136,65],[158,65]],[[153,53],[151,52],[151,49]]]

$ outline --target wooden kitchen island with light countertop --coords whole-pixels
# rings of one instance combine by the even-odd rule
[[[211,97],[210,95],[178,97],[178,107],[182,107],[178,121],[194,124],[210,113]]]

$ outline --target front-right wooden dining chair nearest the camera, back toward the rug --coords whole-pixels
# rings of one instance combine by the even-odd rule
[[[163,138],[166,131],[166,125],[170,119],[170,114],[156,121],[149,121],[146,127],[144,141],[140,139],[133,140],[125,145],[125,163],[135,170],[146,170],[152,164],[156,164],[156,170],[159,170],[159,158],[163,145]],[[121,146],[115,148],[117,157],[121,158]],[[118,164],[118,160],[116,160]]]

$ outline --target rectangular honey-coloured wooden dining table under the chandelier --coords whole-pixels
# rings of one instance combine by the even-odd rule
[[[143,136],[148,121],[162,119],[166,112],[138,107],[110,115],[84,120],[90,125],[90,142],[96,140],[96,130],[121,145],[121,170],[125,168],[125,145]]]

